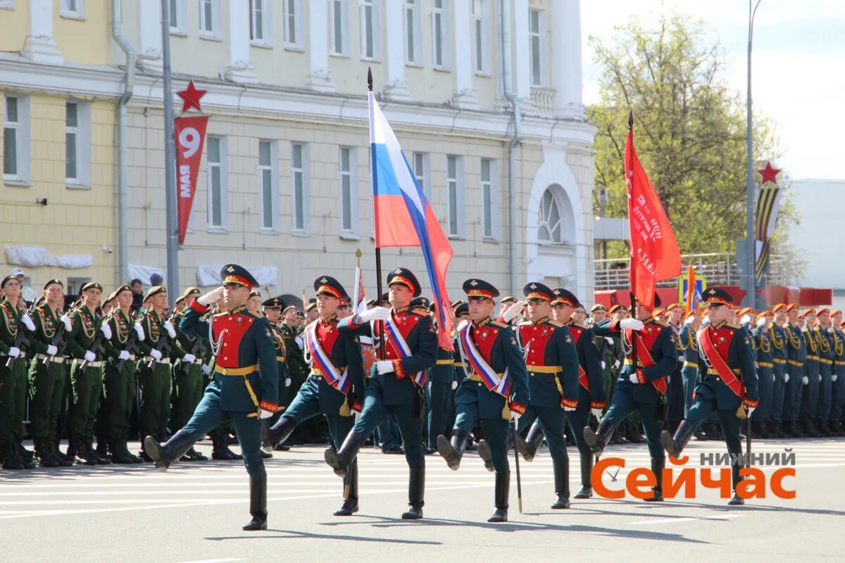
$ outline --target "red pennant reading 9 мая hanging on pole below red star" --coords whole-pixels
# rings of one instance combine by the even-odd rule
[[[194,194],[197,191],[199,160],[203,156],[205,128],[209,116],[182,116],[173,120],[173,135],[176,138],[177,202],[179,203],[179,244],[185,241],[188,219]]]

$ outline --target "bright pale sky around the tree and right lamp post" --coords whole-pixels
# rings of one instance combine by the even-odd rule
[[[727,57],[724,78],[745,95],[747,0],[581,0],[586,104],[597,100],[599,78],[587,38],[609,40],[613,26],[630,16],[647,25],[673,8],[705,21]],[[845,179],[845,0],[760,2],[752,95],[755,111],[777,123],[783,151],[777,168],[793,179]]]

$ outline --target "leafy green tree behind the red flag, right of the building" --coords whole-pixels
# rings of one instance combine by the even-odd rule
[[[632,111],[637,154],[682,253],[733,252],[745,235],[744,96],[722,78],[722,49],[706,32],[689,16],[662,14],[651,28],[630,19],[608,43],[590,37],[602,68],[600,102],[588,115],[598,127],[596,185],[608,189],[605,214],[627,216],[624,142]],[[777,159],[773,123],[759,111],[754,139],[755,155]],[[781,228],[788,220],[778,219]],[[613,244],[608,254],[626,257],[627,245]]]

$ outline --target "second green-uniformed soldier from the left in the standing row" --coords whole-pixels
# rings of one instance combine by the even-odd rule
[[[34,354],[30,363],[30,433],[38,464],[46,468],[74,464],[58,455],[56,436],[64,398],[64,338],[70,332],[70,320],[59,318],[63,290],[60,279],[48,281],[44,284],[41,304],[30,313],[35,325],[30,340],[30,351]]]

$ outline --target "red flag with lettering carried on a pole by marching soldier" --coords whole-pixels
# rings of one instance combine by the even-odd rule
[[[625,140],[625,184],[630,222],[631,291],[643,306],[654,306],[657,282],[681,273],[681,253],[660,198],[640,165],[634,149],[634,117],[629,117]]]

